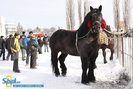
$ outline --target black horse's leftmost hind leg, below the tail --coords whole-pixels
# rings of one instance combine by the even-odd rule
[[[57,58],[58,52],[51,51],[51,64],[52,64],[52,70],[55,73],[55,76],[60,76],[59,68],[58,68],[58,58]]]

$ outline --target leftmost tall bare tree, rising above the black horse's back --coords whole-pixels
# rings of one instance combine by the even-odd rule
[[[66,25],[67,29],[74,29],[75,26],[75,5],[74,0],[66,0]]]

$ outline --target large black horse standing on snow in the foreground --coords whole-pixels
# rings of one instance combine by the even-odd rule
[[[93,8],[90,6],[90,12],[84,18],[76,32],[59,29],[50,38],[51,63],[55,76],[60,76],[58,61],[60,63],[62,76],[66,76],[67,68],[64,63],[68,54],[80,56],[82,62],[82,80],[83,84],[95,82],[94,68],[95,61],[100,48],[99,32],[102,23],[102,6]],[[92,27],[88,27],[91,21]],[[58,53],[61,55],[58,57]]]

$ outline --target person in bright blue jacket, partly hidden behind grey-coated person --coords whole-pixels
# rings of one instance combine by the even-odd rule
[[[30,31],[29,32],[29,35],[27,37],[25,37],[25,39],[24,39],[24,46],[26,48],[26,54],[27,54],[27,56],[26,56],[26,66],[28,66],[28,64],[29,64],[30,52],[28,50],[28,42],[30,41],[30,36],[31,35],[33,35],[33,32],[32,31]],[[36,40],[36,43],[38,44],[37,38],[34,37],[34,39]]]

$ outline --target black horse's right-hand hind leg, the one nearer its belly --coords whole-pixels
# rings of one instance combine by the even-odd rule
[[[66,57],[67,57],[67,54],[63,54],[63,53],[61,53],[61,55],[59,56],[60,67],[62,69],[61,70],[62,76],[66,76],[66,73],[67,73],[67,68],[66,68],[66,65],[64,63]]]

